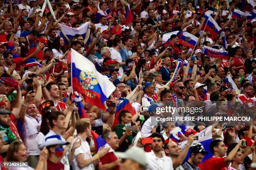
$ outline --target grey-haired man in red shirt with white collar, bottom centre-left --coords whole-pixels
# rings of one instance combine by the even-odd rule
[[[121,160],[117,158],[114,151],[119,147],[118,136],[114,132],[104,133],[102,138],[110,145],[109,152],[100,158],[98,163],[99,170],[111,169],[111,170],[120,170],[118,166],[121,163]]]

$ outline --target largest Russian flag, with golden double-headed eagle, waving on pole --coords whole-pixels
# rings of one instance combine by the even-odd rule
[[[106,110],[104,102],[115,90],[108,78],[97,72],[86,57],[71,49],[72,90],[84,96],[84,101]]]

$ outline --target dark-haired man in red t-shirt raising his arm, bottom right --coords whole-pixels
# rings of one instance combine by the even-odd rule
[[[227,166],[230,161],[236,156],[238,149],[242,146],[244,139],[236,145],[230,153],[226,155],[225,144],[222,140],[213,140],[210,143],[210,150],[212,152],[212,158],[205,160],[205,162],[200,163],[198,167],[200,170],[227,170]],[[224,157],[224,158],[223,158]]]

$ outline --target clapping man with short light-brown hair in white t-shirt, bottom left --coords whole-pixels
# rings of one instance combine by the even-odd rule
[[[75,124],[77,130],[77,138],[73,140],[80,140],[81,145],[75,149],[75,158],[72,163],[73,170],[94,170],[94,165],[98,160],[108,153],[110,148],[99,149],[97,154],[92,157],[89,143],[86,138],[91,138],[92,126],[89,119],[80,119]]]

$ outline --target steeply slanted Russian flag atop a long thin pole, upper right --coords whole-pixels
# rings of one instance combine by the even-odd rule
[[[219,25],[216,23],[216,21],[211,16],[205,15],[205,19],[206,20],[205,20],[201,30],[209,31],[210,34],[212,35],[211,36],[212,40],[214,40],[214,38],[217,38],[221,28],[219,27]]]

